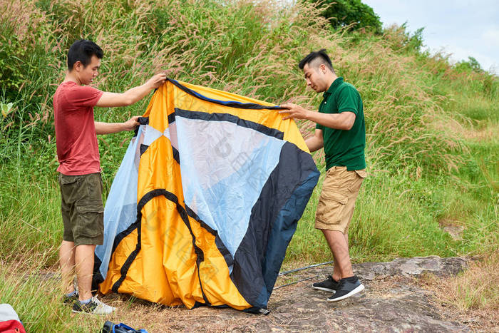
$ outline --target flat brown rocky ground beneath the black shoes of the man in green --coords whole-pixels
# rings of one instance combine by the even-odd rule
[[[455,275],[466,266],[463,258],[414,257],[392,262],[354,265],[366,290],[340,302],[326,302],[329,292],[313,290],[312,281],[323,280],[330,266],[314,267],[279,277],[269,300],[270,314],[247,314],[234,309],[200,307],[176,309],[168,325],[149,332],[468,332],[463,323],[445,319],[433,305],[431,292],[417,287],[414,277],[423,273]],[[289,282],[310,279],[286,287]],[[168,312],[171,309],[164,309]],[[161,311],[161,312],[163,312]],[[178,318],[178,319],[176,319]]]

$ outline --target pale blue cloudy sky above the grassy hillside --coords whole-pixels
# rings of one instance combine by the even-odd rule
[[[431,53],[452,53],[451,61],[475,58],[499,75],[499,0],[361,0],[383,26],[407,22],[413,33],[423,28]]]

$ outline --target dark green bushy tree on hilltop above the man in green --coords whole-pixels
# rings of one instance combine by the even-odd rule
[[[381,21],[374,10],[362,4],[361,0],[312,0],[320,6],[327,6],[322,16],[329,19],[334,29],[350,26],[350,29],[366,29],[381,34]]]

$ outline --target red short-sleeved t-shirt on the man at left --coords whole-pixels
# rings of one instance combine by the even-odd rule
[[[66,81],[53,96],[58,172],[88,175],[101,172],[93,107],[103,92]]]

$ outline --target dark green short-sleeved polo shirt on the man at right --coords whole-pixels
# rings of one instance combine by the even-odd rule
[[[316,125],[322,130],[324,137],[324,153],[326,154],[326,169],[333,166],[346,166],[346,170],[362,170],[366,168],[364,148],[366,148],[366,125],[364,123],[364,107],[359,91],[350,83],[339,77],[334,80],[324,93],[324,99],[319,106],[321,113],[355,113],[355,123],[350,130],[335,130],[334,128]]]

